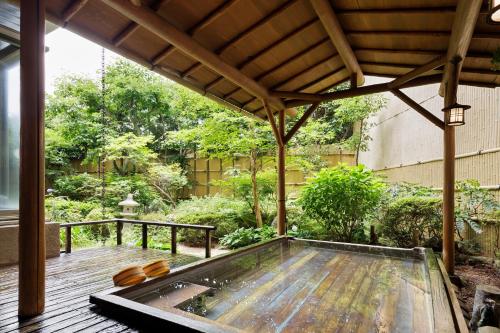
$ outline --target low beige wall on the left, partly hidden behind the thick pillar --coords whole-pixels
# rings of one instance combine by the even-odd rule
[[[47,258],[58,257],[60,253],[59,224],[45,224]],[[19,260],[19,226],[0,225],[0,266],[16,264]]]

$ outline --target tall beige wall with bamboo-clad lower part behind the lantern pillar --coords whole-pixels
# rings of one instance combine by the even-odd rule
[[[380,82],[380,80],[377,80]],[[438,85],[404,92],[439,118],[443,99]],[[373,141],[360,162],[380,171],[389,181],[409,181],[442,187],[442,130],[399,99],[370,121]],[[460,86],[458,101],[471,105],[465,126],[456,129],[457,179],[478,179],[483,186],[500,186],[500,89]]]

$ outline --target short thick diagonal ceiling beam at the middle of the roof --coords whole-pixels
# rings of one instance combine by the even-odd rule
[[[310,0],[311,4],[314,8],[314,11],[318,15],[323,27],[326,32],[330,36],[333,45],[337,49],[337,52],[340,54],[344,65],[350,74],[357,74],[357,83],[358,86],[364,84],[365,79],[363,77],[363,71],[359,66],[358,60],[356,59],[356,55],[347,40],[346,35],[340,25],[335,12],[333,11],[332,6],[328,0]]]

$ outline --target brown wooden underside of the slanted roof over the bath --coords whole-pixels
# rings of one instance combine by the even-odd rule
[[[274,112],[301,105],[282,92],[324,93],[353,75],[359,86],[363,75],[399,77],[445,56],[456,7],[456,0],[47,0],[47,15],[209,98],[265,118],[262,100]],[[476,23],[461,84],[500,86],[491,69],[500,28],[486,23],[486,10],[484,1],[477,22],[467,18]],[[445,57],[436,60],[419,84],[441,82],[445,64]]]

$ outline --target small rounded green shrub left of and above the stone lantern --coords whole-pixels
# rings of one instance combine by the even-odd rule
[[[63,176],[54,182],[54,190],[57,196],[65,196],[78,201],[95,199],[98,196],[100,186],[100,180],[88,173]]]

